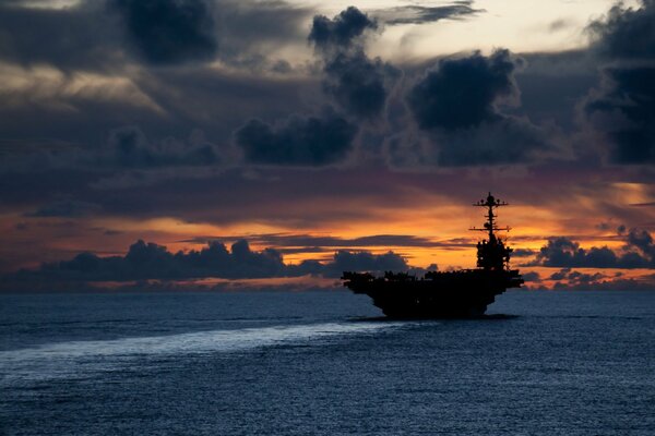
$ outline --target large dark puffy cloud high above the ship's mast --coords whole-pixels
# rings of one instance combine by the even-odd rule
[[[547,132],[499,109],[517,104],[514,73],[522,65],[522,59],[500,49],[489,57],[474,52],[442,59],[428,70],[406,98],[418,128],[430,138],[422,159],[445,167],[524,164],[551,148]],[[408,153],[391,143],[392,161]]]

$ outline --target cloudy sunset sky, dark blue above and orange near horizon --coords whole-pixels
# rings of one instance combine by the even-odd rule
[[[655,1],[0,0],[1,290],[655,288]]]

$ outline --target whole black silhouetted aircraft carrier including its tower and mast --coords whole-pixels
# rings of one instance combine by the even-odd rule
[[[521,288],[519,269],[510,268],[512,249],[496,232],[509,231],[496,223],[496,209],[508,203],[493,197],[475,203],[485,207],[487,221],[483,228],[469,230],[487,232],[487,239],[477,243],[477,268],[453,271],[428,271],[422,278],[407,272],[386,271],[384,277],[369,272],[344,271],[344,286],[353,292],[367,294],[384,315],[393,318],[464,318],[483,316],[509,288]]]

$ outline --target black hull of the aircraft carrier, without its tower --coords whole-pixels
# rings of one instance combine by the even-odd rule
[[[392,318],[468,318],[485,314],[496,295],[519,288],[517,270],[433,272],[429,278],[389,279],[344,274],[344,286],[369,295]]]

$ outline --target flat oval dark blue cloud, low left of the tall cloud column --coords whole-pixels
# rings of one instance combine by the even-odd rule
[[[250,120],[235,138],[249,162],[319,167],[344,160],[356,134],[354,124],[327,113],[323,118],[291,116],[278,125]]]

